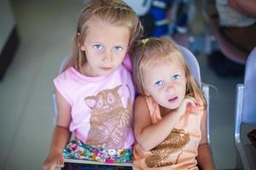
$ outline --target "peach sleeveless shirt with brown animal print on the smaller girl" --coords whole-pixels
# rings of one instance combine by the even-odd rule
[[[160,106],[151,97],[145,99],[152,122],[159,122],[162,119]],[[187,110],[169,136],[152,150],[145,151],[139,144],[135,144],[133,163],[136,169],[198,169],[195,157],[201,141],[203,114],[203,110]]]

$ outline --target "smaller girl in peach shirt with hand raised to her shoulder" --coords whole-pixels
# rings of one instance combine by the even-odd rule
[[[206,99],[175,43],[143,39],[133,57],[137,170],[213,169]]]

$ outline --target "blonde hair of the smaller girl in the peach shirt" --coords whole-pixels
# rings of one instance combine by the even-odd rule
[[[137,44],[136,50],[132,54],[133,79],[137,92],[146,95],[143,70],[147,68],[148,65],[154,64],[156,60],[164,60],[166,62],[176,61],[182,65],[187,79],[186,95],[199,99],[202,101],[204,108],[207,108],[205,95],[195,82],[195,77],[192,76],[183,54],[180,52],[175,42],[165,37],[147,38]]]

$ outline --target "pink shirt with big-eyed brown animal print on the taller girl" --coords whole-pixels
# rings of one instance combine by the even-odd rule
[[[71,105],[69,129],[77,139],[100,148],[131,148],[135,89],[124,65],[107,77],[86,77],[70,67],[54,83]]]

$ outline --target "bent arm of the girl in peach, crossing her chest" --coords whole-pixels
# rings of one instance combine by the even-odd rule
[[[160,122],[153,124],[145,98],[141,95],[137,96],[134,105],[134,131],[137,143],[143,150],[151,150],[166,139],[185,113],[188,103],[193,103],[192,99],[183,99],[182,105],[177,110],[168,113]]]

